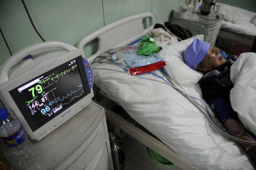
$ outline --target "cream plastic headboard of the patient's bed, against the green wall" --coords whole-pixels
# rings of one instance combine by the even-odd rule
[[[142,23],[144,18],[149,18],[150,20],[150,25],[145,30]],[[144,36],[153,27],[154,17],[151,13],[132,15],[108,24],[85,36],[78,42],[77,48],[84,48],[87,43],[98,38],[97,52],[86,58],[91,63],[101,53],[120,45],[127,45]]]

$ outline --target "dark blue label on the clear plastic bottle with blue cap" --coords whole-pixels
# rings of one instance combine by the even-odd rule
[[[3,141],[5,146],[7,146],[9,148],[18,146],[25,139],[26,139],[26,133],[24,132],[22,127],[20,127],[19,130],[15,134],[13,134],[12,136],[4,137],[4,138],[1,137],[1,140]]]

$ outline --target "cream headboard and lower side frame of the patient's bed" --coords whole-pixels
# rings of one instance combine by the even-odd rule
[[[146,29],[143,29],[142,22],[144,18],[149,18],[150,21],[149,27]],[[105,27],[102,27],[101,29],[82,38],[78,42],[77,48],[84,48],[86,44],[97,38],[97,52],[86,58],[90,63],[92,63],[95,57],[97,57],[101,53],[114,47],[120,45],[127,45],[131,42],[134,42],[135,40],[144,36],[153,27],[154,18],[151,13],[129,16],[127,18],[113,22]],[[104,104],[102,103],[102,105]],[[181,169],[196,169],[194,166],[190,165],[185,160],[181,159],[181,157],[179,157],[177,154],[175,154],[173,150],[171,150],[171,148],[168,147],[166,144],[149,135],[140,128],[136,127],[135,125],[133,125],[133,123],[126,121],[117,113],[114,113],[111,110],[107,110],[106,118],[115,127],[118,127],[125,133],[131,135],[133,138],[137,139],[139,142],[143,143],[158,154],[162,155]],[[118,135],[121,135],[118,131],[116,132],[118,133]]]

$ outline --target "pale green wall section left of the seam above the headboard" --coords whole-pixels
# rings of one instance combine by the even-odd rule
[[[102,0],[24,1],[35,27],[46,41],[60,41],[75,46],[82,37],[104,26]],[[0,28],[12,54],[28,45],[42,42],[20,0],[0,1]],[[7,47],[1,41],[2,48]],[[93,47],[87,47],[86,53],[93,50]],[[1,52],[0,65],[6,60],[5,56]]]

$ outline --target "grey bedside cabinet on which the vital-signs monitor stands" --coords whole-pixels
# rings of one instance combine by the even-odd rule
[[[37,161],[29,170],[113,170],[105,112],[104,107],[92,101],[45,138],[32,140]],[[1,149],[11,161],[6,148]]]

